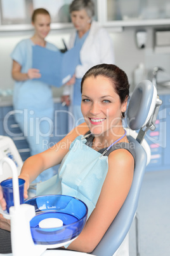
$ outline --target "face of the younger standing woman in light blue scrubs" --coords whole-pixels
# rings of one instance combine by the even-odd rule
[[[32,25],[34,25],[36,35],[39,38],[41,39],[46,38],[46,36],[50,31],[50,22],[51,22],[51,19],[49,15],[44,15],[44,14],[36,15],[36,19],[34,23],[32,23]]]

